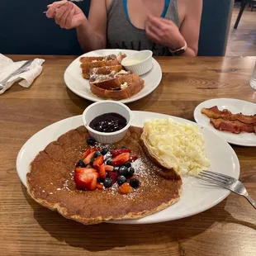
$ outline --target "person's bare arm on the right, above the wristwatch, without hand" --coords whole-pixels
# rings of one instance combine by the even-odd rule
[[[180,27],[180,33],[187,42],[187,50],[183,55],[197,56],[202,0],[185,0],[184,2],[186,2],[186,13]]]

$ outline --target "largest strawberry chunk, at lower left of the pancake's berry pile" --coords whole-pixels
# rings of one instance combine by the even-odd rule
[[[97,170],[93,168],[76,168],[73,179],[78,189],[94,190],[97,188],[98,177]]]

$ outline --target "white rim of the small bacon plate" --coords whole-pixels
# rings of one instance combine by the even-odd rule
[[[194,119],[195,119],[195,121],[197,122],[198,125],[204,126],[204,124],[201,122],[201,119],[199,117],[199,115],[201,114],[201,108],[202,107],[206,107],[205,105],[207,103],[217,102],[217,101],[241,102],[241,103],[244,103],[244,104],[252,104],[252,105],[256,106],[256,104],[254,102],[248,102],[248,101],[244,101],[244,100],[240,100],[240,99],[235,99],[235,98],[212,98],[212,99],[206,100],[204,102],[201,102],[195,108],[193,116],[194,116]],[[212,104],[216,104],[216,103],[212,103]],[[209,127],[207,127],[207,128],[210,129]],[[242,140],[241,140],[241,142],[238,142],[237,140],[230,140],[230,139],[226,138],[225,132],[222,132],[220,130],[216,130],[213,127],[211,127],[210,130],[215,132],[217,135],[219,135],[220,137],[222,137],[224,140],[226,140],[228,143],[230,143],[232,145],[239,145],[239,146],[245,146],[245,147],[255,147],[256,146],[256,140],[255,140],[255,143],[251,143],[251,144],[243,143]],[[239,139],[239,135],[237,135],[237,138]],[[256,135],[255,135],[255,139],[256,139]]]

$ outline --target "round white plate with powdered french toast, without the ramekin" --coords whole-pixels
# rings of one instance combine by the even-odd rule
[[[152,67],[142,75],[121,64],[136,52],[95,50],[79,56],[66,69],[64,81],[72,92],[92,102],[135,102],[153,92],[162,79],[162,70],[154,58]]]

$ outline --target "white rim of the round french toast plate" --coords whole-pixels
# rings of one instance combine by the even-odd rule
[[[124,52],[124,53],[130,52],[130,54],[133,54],[133,53],[135,53],[135,52],[138,52],[138,50],[119,50],[119,49],[93,50],[93,51],[90,51],[90,52],[88,52],[88,53],[86,53],[86,54],[83,54],[83,55],[78,56],[78,58],[74,59],[73,62],[72,62],[71,64],[69,64],[68,68],[65,69],[65,72],[64,72],[64,83],[65,83],[65,85],[67,86],[67,88],[69,88],[69,90],[70,90],[71,92],[73,92],[73,93],[75,93],[76,95],[78,95],[79,97],[83,97],[84,99],[87,99],[88,101],[91,101],[91,102],[100,102],[100,101],[104,101],[104,99],[102,99],[102,98],[97,98],[96,96],[93,97],[93,96],[91,96],[91,95],[83,94],[83,93],[81,93],[81,92],[78,92],[75,88],[73,88],[73,87],[67,82],[67,75],[68,75],[69,69],[70,69],[70,67],[73,65],[73,63],[78,62],[81,57],[83,57],[83,56],[88,56],[88,55],[92,55],[92,54],[98,55],[98,54],[101,54],[102,51],[109,51],[109,54],[113,53],[114,51],[122,51],[122,52]],[[155,69],[158,69],[158,70],[156,70],[156,73],[159,73],[158,82],[155,83],[154,86],[153,86],[152,88],[150,88],[148,92],[145,92],[145,93],[143,93],[143,94],[140,95],[140,96],[136,96],[136,94],[135,94],[135,95],[132,96],[132,97],[129,97],[129,98],[120,100],[120,101],[118,101],[118,102],[121,102],[121,103],[125,103],[125,104],[126,104],[126,103],[130,103],[130,102],[138,101],[138,100],[140,100],[141,98],[148,96],[151,92],[154,92],[154,90],[159,87],[159,84],[161,83],[162,77],[163,77],[163,75],[162,75],[162,69],[161,69],[161,67],[160,67],[160,65],[159,65],[159,63],[158,63],[158,61],[157,61],[156,59],[153,58],[152,61],[153,61],[153,65],[155,66]],[[150,70],[149,73],[150,73],[150,72],[153,72],[153,71]],[[147,73],[146,75],[148,75],[149,73]],[[146,86],[146,84],[145,84],[145,86]],[[142,90],[143,90],[143,89],[142,89]],[[141,91],[140,91],[140,92],[141,92]]]

